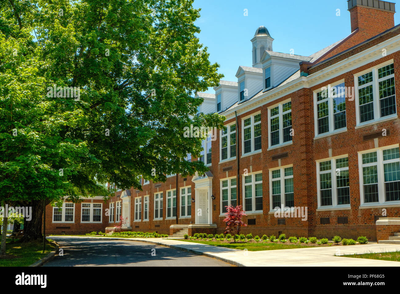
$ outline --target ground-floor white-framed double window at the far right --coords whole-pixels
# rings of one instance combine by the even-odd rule
[[[400,203],[398,144],[358,152],[358,162],[361,205]]]

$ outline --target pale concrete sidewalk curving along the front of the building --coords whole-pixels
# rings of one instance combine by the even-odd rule
[[[236,266],[400,266],[400,262],[396,261],[335,256],[335,254],[345,255],[400,251],[399,244],[365,244],[246,251],[167,238],[109,238],[90,236],[80,238],[123,239],[148,242],[210,256]]]

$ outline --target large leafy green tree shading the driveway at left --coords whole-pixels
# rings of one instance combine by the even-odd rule
[[[221,126],[193,97],[222,75],[192,2],[0,0],[0,200],[32,206],[23,240],[41,237],[43,200],[206,171],[184,161],[202,149],[184,127]]]

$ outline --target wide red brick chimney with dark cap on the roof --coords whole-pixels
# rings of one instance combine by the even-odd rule
[[[380,0],[348,0],[351,31],[359,29],[358,34],[365,39],[394,27],[394,3]]]

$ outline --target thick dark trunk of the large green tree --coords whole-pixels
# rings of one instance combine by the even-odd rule
[[[42,216],[43,216],[43,201],[33,200],[29,203],[32,206],[32,220],[24,219],[24,236],[19,242],[29,242],[32,240],[42,239]]]

